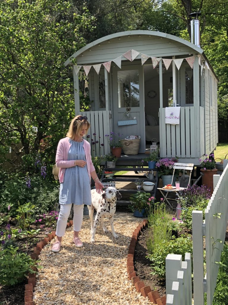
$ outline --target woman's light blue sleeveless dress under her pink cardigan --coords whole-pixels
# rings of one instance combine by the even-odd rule
[[[67,160],[85,160],[83,141],[75,142],[69,139],[71,147]],[[91,205],[90,179],[87,164],[84,167],[73,166],[66,168],[64,181],[60,183],[59,203],[76,205]]]

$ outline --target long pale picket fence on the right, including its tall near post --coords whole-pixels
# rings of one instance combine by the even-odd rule
[[[228,221],[228,166],[221,176],[214,175],[212,197],[205,210],[205,221],[202,221],[202,211],[192,212],[193,238],[193,286],[194,303],[204,304],[204,292],[207,295],[207,305],[212,305],[219,271],[219,262],[223,251]],[[215,185],[215,183],[214,183]],[[203,236],[206,244],[206,274],[203,266]]]

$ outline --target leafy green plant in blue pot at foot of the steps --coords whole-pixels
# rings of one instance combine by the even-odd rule
[[[135,217],[144,217],[149,198],[150,193],[140,191],[130,197],[132,203],[129,208],[132,212],[134,212],[133,215]]]

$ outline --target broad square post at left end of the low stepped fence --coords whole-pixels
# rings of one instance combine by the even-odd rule
[[[177,271],[181,270],[181,263],[180,254],[168,254],[165,259],[166,295],[172,294],[172,285],[177,280]]]

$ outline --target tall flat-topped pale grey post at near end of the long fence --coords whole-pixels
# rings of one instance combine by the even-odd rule
[[[194,304],[204,305],[203,292],[203,212],[192,211]]]

